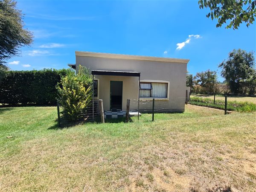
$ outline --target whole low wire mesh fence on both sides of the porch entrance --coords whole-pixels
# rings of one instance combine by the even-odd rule
[[[127,99],[126,111],[103,111],[102,100],[90,101],[87,108],[74,116],[58,105],[59,127],[87,122],[152,122],[156,120],[209,117],[229,113],[256,112],[256,95],[215,94],[190,95],[168,99]],[[108,119],[108,113],[117,119]],[[120,113],[120,114],[119,114]],[[110,115],[111,116],[111,115]],[[119,118],[122,116],[122,118]],[[105,118],[105,119],[104,119]]]

